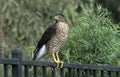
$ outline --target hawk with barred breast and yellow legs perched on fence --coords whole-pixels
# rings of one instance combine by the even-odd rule
[[[54,19],[56,22],[45,30],[38,42],[34,50],[33,60],[37,61],[44,55],[51,54],[57,67],[62,68],[63,61],[59,59],[58,53],[68,37],[69,25],[63,14],[55,15]]]

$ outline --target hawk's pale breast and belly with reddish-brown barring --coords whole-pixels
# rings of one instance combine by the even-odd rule
[[[69,32],[68,24],[59,22],[56,24],[56,34],[48,42],[48,51],[52,49],[54,52],[58,51],[67,39]]]

